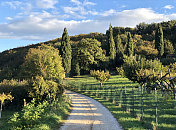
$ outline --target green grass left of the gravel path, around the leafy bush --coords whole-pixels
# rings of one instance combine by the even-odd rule
[[[59,102],[53,107],[50,107],[50,110],[42,115],[39,121],[37,121],[37,124],[35,124],[32,128],[26,128],[26,130],[58,130],[62,123],[64,123],[63,121],[67,118],[71,110],[71,102],[67,98],[65,98],[65,100]],[[13,124],[9,124],[8,121],[15,112],[17,111],[4,110],[2,112],[2,118],[0,119],[0,130],[13,129]],[[21,111],[18,112],[20,113]]]

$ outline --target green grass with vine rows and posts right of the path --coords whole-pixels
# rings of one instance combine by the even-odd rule
[[[104,83],[104,90],[88,75],[70,78],[67,83],[70,84],[69,89],[88,95],[106,106],[124,129],[155,128],[155,94],[144,91],[142,96],[138,83],[118,75],[111,76]],[[158,129],[176,129],[176,101],[166,100],[160,92],[157,92],[157,98]]]

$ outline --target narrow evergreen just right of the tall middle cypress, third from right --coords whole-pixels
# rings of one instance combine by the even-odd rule
[[[120,66],[123,62],[124,49],[122,45],[122,41],[120,35],[117,35],[116,39],[116,62],[117,65]]]

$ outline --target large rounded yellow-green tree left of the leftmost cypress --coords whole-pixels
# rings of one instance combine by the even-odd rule
[[[21,68],[20,77],[28,79],[39,75],[59,81],[64,74],[59,51],[47,45],[29,49]]]

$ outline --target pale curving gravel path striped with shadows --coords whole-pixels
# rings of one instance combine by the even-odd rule
[[[65,94],[72,98],[72,112],[60,130],[122,130],[99,102],[69,90]]]

